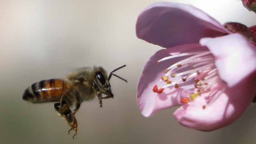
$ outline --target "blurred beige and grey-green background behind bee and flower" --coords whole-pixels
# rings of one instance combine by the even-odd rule
[[[225,22],[256,24],[255,13],[239,0],[176,0],[189,3]],[[256,143],[255,105],[232,125],[201,132],[179,125],[165,109],[150,118],[141,115],[136,86],[148,58],[157,50],[136,37],[139,13],[156,0],[1,0],[0,1],[0,143],[185,144]],[[76,113],[78,134],[53,103],[22,100],[36,81],[64,78],[78,67],[101,65],[113,77],[114,99],[84,102]]]

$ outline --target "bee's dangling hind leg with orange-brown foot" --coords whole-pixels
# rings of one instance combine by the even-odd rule
[[[72,137],[74,139],[74,136],[77,134],[78,125],[77,125],[77,119],[74,113],[72,113],[72,111],[68,106],[69,101],[70,100],[65,95],[63,95],[61,97],[61,102],[55,103],[54,108],[62,116],[62,118],[65,119],[67,123],[70,125],[71,128],[68,131],[68,134],[71,130],[75,131],[75,134]]]

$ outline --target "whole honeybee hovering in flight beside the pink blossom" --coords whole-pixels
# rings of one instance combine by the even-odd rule
[[[69,74],[66,79],[48,79],[33,83],[25,89],[22,99],[32,103],[54,103],[54,109],[66,120],[70,129],[77,134],[77,119],[75,113],[84,101],[90,101],[96,96],[99,99],[99,107],[102,107],[102,99],[113,98],[109,80],[112,75],[127,82],[113,72],[125,67],[123,65],[110,72],[107,76],[103,67],[84,67]],[[102,96],[104,94],[105,96]],[[71,107],[75,106],[72,111]]]

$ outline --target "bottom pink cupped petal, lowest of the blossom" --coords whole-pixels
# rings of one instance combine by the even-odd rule
[[[208,94],[195,98],[193,102],[184,104],[173,115],[181,125],[201,131],[213,131],[233,123],[239,118],[251,103],[256,93],[256,75],[252,74],[246,79],[227,88],[212,104],[206,105]],[[219,88],[225,84],[217,84]]]

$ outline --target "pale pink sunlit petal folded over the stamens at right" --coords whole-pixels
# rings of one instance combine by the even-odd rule
[[[229,87],[241,82],[256,72],[255,46],[240,34],[229,34],[217,38],[202,38],[202,46],[208,47],[216,57],[219,76]]]

